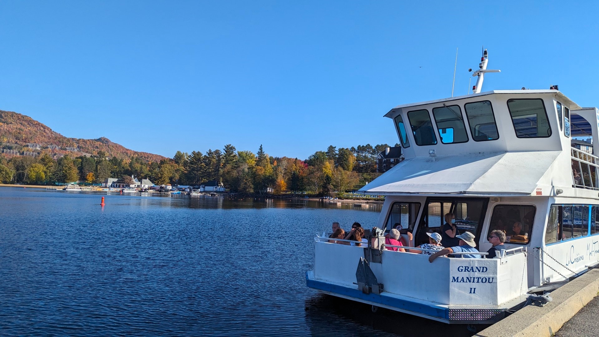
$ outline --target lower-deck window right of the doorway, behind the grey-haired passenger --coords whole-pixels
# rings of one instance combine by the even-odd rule
[[[491,231],[501,230],[506,233],[509,243],[527,244],[533,231],[536,207],[530,205],[499,204],[493,209],[491,216]]]

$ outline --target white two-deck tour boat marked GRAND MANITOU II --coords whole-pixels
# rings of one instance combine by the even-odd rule
[[[486,70],[486,50],[481,61],[473,94],[386,113],[404,160],[361,189],[385,195],[382,231],[373,228],[361,247],[316,237],[308,287],[373,310],[492,323],[531,293],[598,264],[599,158],[573,148],[571,137],[597,139],[599,110],[578,106],[557,86],[480,92],[484,74],[495,72]],[[506,231],[500,256],[429,263],[425,254],[385,249],[383,235],[397,224],[410,246],[428,243],[426,233],[440,233],[447,213],[461,233],[476,236],[480,252],[491,248],[492,230]]]

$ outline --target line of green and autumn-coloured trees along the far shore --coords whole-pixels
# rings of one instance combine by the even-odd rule
[[[396,146],[398,146],[396,144]],[[102,183],[119,178],[129,183],[131,176],[150,179],[156,185],[200,185],[208,180],[223,183],[233,192],[274,193],[310,192],[332,195],[334,191],[359,188],[374,179],[376,157],[388,145],[358,145],[352,148],[329,146],[316,151],[307,160],[270,157],[262,148],[237,151],[231,144],[205,153],[177,151],[173,158],[148,162],[139,157],[129,161],[98,151],[91,157],[69,157],[55,160],[47,152],[36,157],[0,157],[0,182],[53,184],[56,182]]]

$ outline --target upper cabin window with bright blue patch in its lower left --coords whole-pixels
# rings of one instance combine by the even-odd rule
[[[432,109],[441,143],[465,143],[468,142],[468,134],[462,118],[462,110],[459,106],[444,106]]]

